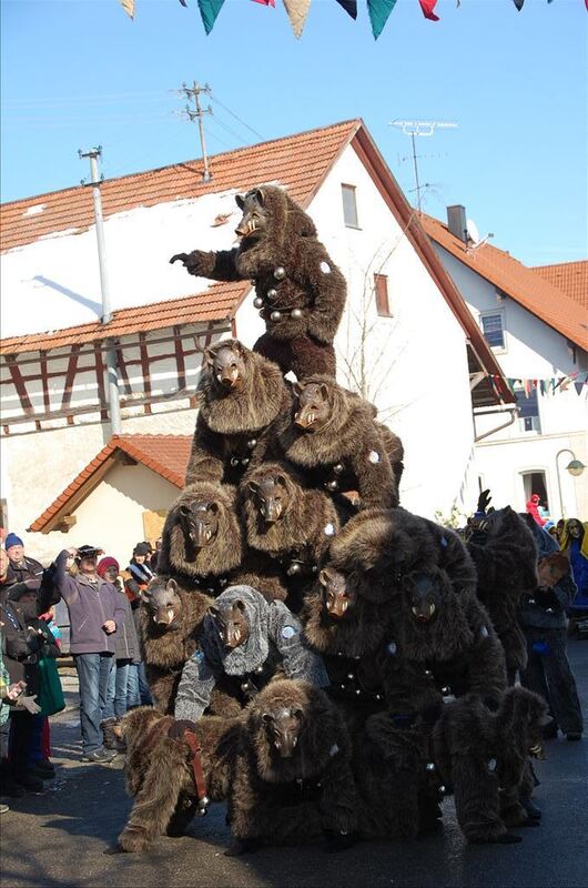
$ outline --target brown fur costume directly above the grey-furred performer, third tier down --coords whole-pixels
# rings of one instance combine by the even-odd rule
[[[282,463],[264,463],[241,486],[249,546],[275,563],[287,605],[296,613],[339,529],[332,498],[305,490]]]

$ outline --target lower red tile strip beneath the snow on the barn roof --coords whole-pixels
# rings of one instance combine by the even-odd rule
[[[215,283],[205,293],[166,302],[152,302],[133,309],[121,309],[112,313],[112,321],[101,324],[69,326],[54,333],[33,333],[29,336],[12,336],[0,340],[0,355],[21,352],[49,351],[69,345],[103,340],[107,336],[128,336],[150,330],[162,330],[175,324],[194,324],[223,321],[233,317],[235,307],[251,285],[242,283]]]

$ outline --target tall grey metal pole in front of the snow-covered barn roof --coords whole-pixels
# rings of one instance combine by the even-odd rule
[[[104,219],[102,215],[102,195],[100,193],[100,185],[102,184],[103,176],[99,175],[98,159],[102,155],[102,145],[91,148],[90,151],[78,151],[80,160],[90,158],[90,181],[85,182],[82,179],[82,185],[92,185],[92,196],[94,201],[94,220],[95,233],[98,241],[98,264],[100,268],[100,290],[102,293],[102,317],[100,319],[103,324],[108,324],[112,320],[112,310],[110,304],[110,289],[107,265],[107,243],[104,240]],[[114,341],[111,339],[105,340],[107,347],[107,391],[109,401],[110,425],[113,435],[120,435],[121,426],[121,403],[119,393],[119,370],[116,366],[116,350]]]

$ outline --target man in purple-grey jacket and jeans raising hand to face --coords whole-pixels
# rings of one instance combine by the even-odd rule
[[[98,575],[99,554],[95,546],[63,549],[55,561],[53,581],[70,615],[70,650],[80,682],[82,761],[110,761],[116,755],[104,749],[100,723],[107,705],[115,633],[124,624],[125,607],[112,583]],[[75,576],[68,574],[72,555],[78,567]]]

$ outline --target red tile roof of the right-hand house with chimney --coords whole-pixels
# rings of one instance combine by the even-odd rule
[[[504,250],[485,243],[469,251],[437,219],[422,215],[425,231],[465,265],[493,283],[567,340],[588,350],[588,319],[577,302]]]

